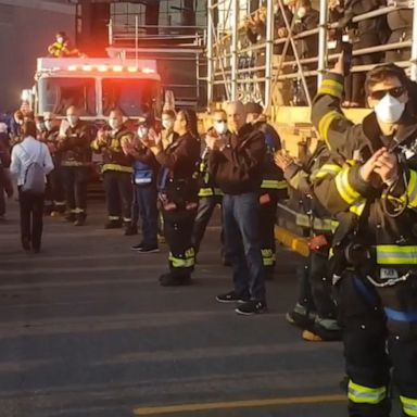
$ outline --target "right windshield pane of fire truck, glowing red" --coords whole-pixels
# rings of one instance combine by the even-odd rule
[[[103,78],[103,114],[118,108],[126,116],[140,116],[160,102],[160,83],[150,79]]]

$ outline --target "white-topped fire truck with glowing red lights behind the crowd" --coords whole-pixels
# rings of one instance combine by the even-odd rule
[[[65,116],[76,105],[86,121],[103,121],[118,108],[130,119],[162,110],[161,76],[153,60],[39,58],[35,86],[24,91],[35,115]]]

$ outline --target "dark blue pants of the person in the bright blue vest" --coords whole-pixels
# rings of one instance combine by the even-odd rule
[[[135,186],[134,205],[142,219],[142,244],[157,247],[157,191],[155,186]],[[135,211],[135,210],[134,210]],[[138,220],[135,218],[134,224]]]

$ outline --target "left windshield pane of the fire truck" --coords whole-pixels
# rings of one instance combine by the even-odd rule
[[[86,116],[96,115],[96,80],[93,78],[42,78],[39,80],[39,111],[65,115],[76,105]]]

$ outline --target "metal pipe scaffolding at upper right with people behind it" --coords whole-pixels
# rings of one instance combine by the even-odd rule
[[[285,80],[298,80],[304,90],[307,104],[312,98],[308,92],[306,79],[316,77],[317,85],[321,83],[329,63],[334,62],[339,54],[329,54],[328,30],[337,28],[338,24],[328,24],[328,1],[318,0],[319,25],[317,28],[294,35],[294,22],[288,22],[283,13],[282,0],[266,0],[265,24],[266,31],[262,41],[251,45],[244,39],[243,21],[250,15],[250,0],[208,0],[207,1],[207,104],[213,101],[236,100],[257,101],[269,109],[276,104],[275,91]],[[286,21],[287,38],[274,38],[275,7],[278,7]],[[384,15],[395,11],[397,7],[386,7],[359,16],[352,22]],[[399,7],[400,9],[400,7]],[[407,68],[412,79],[417,80],[417,8],[413,8],[413,38],[409,41],[380,45],[371,48],[358,49],[354,56],[372,52],[410,49],[408,61],[397,62],[399,66]],[[253,12],[252,12],[253,13]],[[308,36],[318,38],[318,54],[314,58],[299,56],[296,42]],[[274,55],[274,46],[283,45],[280,56]],[[288,59],[291,52],[293,59]],[[258,63],[255,56],[265,56],[264,63]],[[314,67],[313,64],[316,64]],[[352,72],[367,72],[375,65],[357,65]],[[311,78],[309,78],[311,79]],[[264,85],[264,94],[260,94],[260,86]]]

